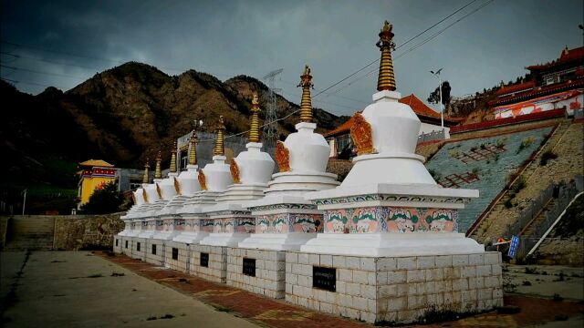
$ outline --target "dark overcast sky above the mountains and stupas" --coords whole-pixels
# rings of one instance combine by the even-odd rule
[[[393,24],[400,46],[471,1],[3,0],[1,76],[37,94],[49,86],[68,90],[130,60],[170,75],[193,68],[222,80],[261,79],[284,68],[276,87],[298,103],[305,64],[316,95],[379,58],[374,44],[383,20]],[[438,85],[431,69],[443,67],[453,95],[463,96],[522,76],[524,67],[557,58],[565,46],[582,46],[581,0],[495,0],[478,9],[489,1],[475,0],[393,53],[402,96],[425,100]],[[378,66],[318,95],[314,105],[335,114],[364,108],[377,83],[377,72],[367,73]]]

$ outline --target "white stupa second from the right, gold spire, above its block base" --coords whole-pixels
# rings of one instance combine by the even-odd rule
[[[298,87],[302,87],[300,123],[297,132],[277,142],[276,161],[280,171],[272,175],[266,197],[247,204],[255,216],[255,233],[239,243],[241,248],[273,251],[297,250],[322,231],[322,212],[308,200],[309,191],[339,186],[337,175],[327,173],[329,146],[315,133],[312,123],[310,68],[305,67]]]

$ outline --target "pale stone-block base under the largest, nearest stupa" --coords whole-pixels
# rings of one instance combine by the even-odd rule
[[[315,288],[313,267],[334,268],[334,290]],[[501,256],[358,257],[287,251],[286,301],[368,323],[412,323],[429,311],[503,305]]]

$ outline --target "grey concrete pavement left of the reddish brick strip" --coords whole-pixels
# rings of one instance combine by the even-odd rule
[[[2,252],[0,264],[0,326],[257,327],[85,251]]]

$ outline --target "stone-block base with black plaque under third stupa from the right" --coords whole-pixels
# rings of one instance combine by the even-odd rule
[[[189,273],[211,282],[225,283],[227,249],[228,247],[224,246],[191,245]]]

